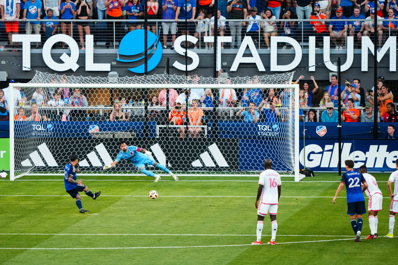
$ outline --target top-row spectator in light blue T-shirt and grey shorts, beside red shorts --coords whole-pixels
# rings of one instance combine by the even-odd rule
[[[36,19],[40,20],[41,14],[41,1],[40,0],[27,0],[23,6],[23,19]],[[29,21],[26,23],[25,31],[26,34],[32,34],[32,29],[35,34],[40,35],[40,22],[39,21]],[[39,48],[39,42],[36,42],[36,48]]]

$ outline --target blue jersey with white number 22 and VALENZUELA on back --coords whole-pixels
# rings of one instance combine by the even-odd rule
[[[365,201],[363,197],[361,183],[366,180],[361,172],[350,170],[341,175],[341,183],[345,184],[347,190],[347,203],[354,203],[356,201]]]

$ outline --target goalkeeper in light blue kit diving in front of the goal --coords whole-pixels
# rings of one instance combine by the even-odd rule
[[[140,148],[137,146],[127,146],[125,141],[120,142],[120,153],[117,155],[115,161],[113,161],[110,165],[105,165],[103,170],[107,170],[117,164],[121,159],[129,160],[132,164],[135,165],[138,171],[144,173],[147,176],[151,176],[155,178],[155,182],[159,181],[160,175],[153,173],[152,171],[146,170],[145,165],[154,166],[155,168],[159,168],[164,172],[168,173],[175,180],[178,180],[178,177],[170,172],[165,166],[159,164],[152,158],[152,152],[144,148]]]

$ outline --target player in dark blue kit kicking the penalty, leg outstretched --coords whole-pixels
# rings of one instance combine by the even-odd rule
[[[96,193],[92,193],[87,186],[82,184],[82,180],[76,180],[76,173],[79,173],[79,169],[76,168],[78,163],[78,157],[76,155],[72,155],[70,157],[70,162],[64,168],[64,182],[66,192],[72,196],[72,198],[76,199],[76,205],[79,208],[80,213],[90,213],[89,210],[84,210],[82,207],[82,197],[79,194],[79,191],[84,191],[86,195],[92,197],[94,200],[100,196],[101,191]]]

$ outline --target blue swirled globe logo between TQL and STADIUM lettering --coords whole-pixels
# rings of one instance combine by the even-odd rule
[[[160,30],[159,30],[160,33]],[[119,55],[123,56],[135,56],[137,57],[140,54],[145,52],[144,47],[144,29],[136,29],[127,33],[120,42],[119,45]],[[160,36],[160,34],[158,34]],[[148,41],[147,46],[148,48],[151,47],[150,50],[147,51],[148,53],[148,72],[152,71],[160,62],[162,58],[162,43],[159,41],[159,37],[156,36],[151,31],[148,31]],[[156,49],[155,49],[156,48]],[[154,51],[152,53],[152,51]],[[152,56],[150,56],[152,54]],[[149,57],[150,56],[150,57]],[[116,58],[119,62],[136,62],[140,60],[144,60],[144,55],[140,56],[139,58],[131,59],[131,60],[123,60]],[[142,74],[145,72],[145,65],[144,62],[140,66],[129,68],[131,72]]]

